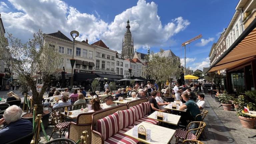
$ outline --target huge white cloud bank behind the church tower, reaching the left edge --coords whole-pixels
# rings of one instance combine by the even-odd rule
[[[94,11],[94,14],[81,13],[59,0],[9,0],[9,2],[17,12],[7,13],[0,8],[6,32],[23,41],[27,41],[32,33],[39,29],[44,33],[61,30],[68,37],[70,31],[77,30],[80,33],[78,40],[85,40],[88,37],[89,43],[92,43],[102,39],[108,47],[121,52],[128,16],[136,49],[147,45],[151,47],[165,45],[170,42],[173,35],[183,31],[190,24],[188,20],[177,17],[162,25],[157,14],[157,5],[154,2],[146,3],[145,0],[138,0],[136,6],[116,15],[110,24],[100,19],[97,11]],[[0,4],[8,7],[3,2]]]

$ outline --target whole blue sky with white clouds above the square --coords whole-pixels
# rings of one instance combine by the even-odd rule
[[[171,49],[184,58],[181,43],[202,34],[203,38],[187,45],[187,67],[207,67],[211,45],[226,28],[238,0],[4,0],[0,13],[6,32],[27,41],[32,33],[61,30],[69,36],[80,32],[79,40],[89,43],[102,39],[113,50],[121,52],[127,16],[135,48],[146,53]],[[183,62],[183,61],[182,61]]]

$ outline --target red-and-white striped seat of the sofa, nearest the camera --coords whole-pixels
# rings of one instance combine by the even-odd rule
[[[133,125],[128,126],[122,130],[120,130],[115,135],[111,136],[110,138],[104,141],[104,144],[137,144],[139,143],[138,140],[125,136],[124,133],[128,130],[132,129]]]

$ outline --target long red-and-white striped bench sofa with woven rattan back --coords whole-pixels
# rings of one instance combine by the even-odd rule
[[[146,117],[150,112],[149,102],[130,105],[129,109],[127,106],[119,105],[110,108],[111,112],[105,109],[92,115],[92,144],[137,144],[138,140],[128,137],[124,133],[144,121],[158,124],[158,121]],[[108,115],[104,114],[104,111]]]

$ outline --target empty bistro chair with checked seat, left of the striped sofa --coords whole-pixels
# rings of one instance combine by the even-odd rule
[[[54,124],[54,129],[52,131],[52,134],[57,129],[60,133],[60,138],[61,138],[61,133],[63,132],[63,135],[64,135],[65,130],[68,128],[69,122],[59,122],[57,112],[60,112],[60,111],[64,112],[64,110],[53,111],[51,113],[51,117],[52,117],[52,123]],[[52,134],[51,134],[49,140],[51,139]]]

